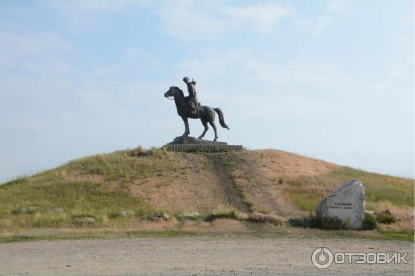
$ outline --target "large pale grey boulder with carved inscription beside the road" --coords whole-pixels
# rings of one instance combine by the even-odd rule
[[[328,197],[322,199],[315,212],[324,223],[327,218],[338,218],[351,229],[362,229],[365,219],[365,189],[362,182],[353,179]]]

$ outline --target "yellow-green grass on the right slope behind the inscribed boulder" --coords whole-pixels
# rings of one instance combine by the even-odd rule
[[[365,208],[380,213],[389,209],[400,217],[396,224],[378,224],[380,230],[414,232],[414,181],[399,177],[390,177],[376,173],[364,172],[352,168],[341,167],[322,175],[301,176],[284,184],[285,192],[290,195],[291,202],[299,210],[314,210],[315,204],[333,190],[353,178],[362,181],[365,187]]]

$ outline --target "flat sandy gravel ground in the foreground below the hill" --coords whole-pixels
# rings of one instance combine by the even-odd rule
[[[333,252],[407,252],[409,264],[311,263]],[[179,237],[0,244],[0,275],[414,275],[414,244],[367,239]]]

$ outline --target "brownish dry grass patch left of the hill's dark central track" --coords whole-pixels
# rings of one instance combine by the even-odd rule
[[[221,179],[204,155],[168,152],[172,168],[163,175],[136,179],[129,186],[131,193],[146,198],[151,206],[171,210],[209,213],[226,204]]]

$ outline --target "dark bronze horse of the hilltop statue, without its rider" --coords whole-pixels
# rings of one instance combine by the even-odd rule
[[[183,91],[176,86],[172,86],[167,92],[165,92],[165,97],[168,99],[170,99],[169,97],[173,97],[174,103],[176,103],[177,114],[185,122],[185,133],[183,133],[183,136],[190,135],[189,121],[187,120],[188,118],[201,119],[202,124],[205,127],[205,130],[203,130],[203,133],[201,136],[199,136],[199,139],[202,139],[205,136],[205,133],[209,129],[208,127],[208,123],[209,123],[210,126],[212,126],[214,130],[213,141],[217,141],[218,132],[214,124],[215,112],[218,113],[219,115],[219,123],[221,124],[221,126],[223,128],[228,128],[228,130],[230,129],[229,126],[225,124],[222,110],[220,110],[219,108],[210,108],[209,106],[199,106],[199,115],[195,115],[194,113],[190,112],[191,110],[187,105],[187,102],[189,101],[189,97],[185,97],[185,95],[183,94]]]

